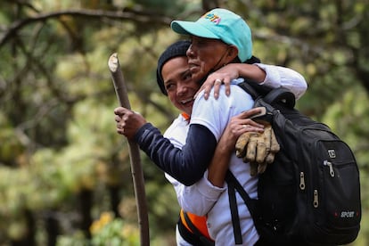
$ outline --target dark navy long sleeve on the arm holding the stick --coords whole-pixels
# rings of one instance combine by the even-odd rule
[[[197,124],[190,126],[182,150],[150,123],[138,130],[135,142],[161,170],[184,185],[192,185],[201,179],[217,147],[217,140],[210,130]]]

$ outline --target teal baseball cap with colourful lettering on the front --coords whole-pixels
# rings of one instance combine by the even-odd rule
[[[252,56],[250,27],[234,12],[217,8],[197,21],[172,21],[170,27],[178,34],[220,39],[227,45],[234,45],[242,62]]]

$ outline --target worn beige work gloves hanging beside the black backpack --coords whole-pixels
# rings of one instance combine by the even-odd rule
[[[266,121],[258,120],[258,123],[265,126],[263,133],[244,133],[235,144],[236,156],[250,162],[251,176],[265,172],[267,164],[275,160],[275,153],[280,150],[272,126]]]

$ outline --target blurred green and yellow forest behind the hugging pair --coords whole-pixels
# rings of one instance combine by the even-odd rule
[[[2,0],[0,245],[137,245],[126,139],[107,61],[117,52],[135,111],[164,131],[178,111],[155,81],[160,53],[181,38],[170,21],[216,6],[237,12],[261,61],[299,71],[298,108],[355,152],[368,245],[368,0]],[[178,205],[142,155],[153,245],[174,245]]]

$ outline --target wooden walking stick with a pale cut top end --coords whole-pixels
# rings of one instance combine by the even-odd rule
[[[120,106],[131,109],[128,100],[127,87],[124,82],[123,73],[120,70],[117,53],[112,53],[108,61],[111,78],[114,84]],[[141,245],[150,245],[149,216],[147,213],[146,195],[144,191],[143,168],[141,166],[140,152],[137,143],[128,140],[131,172],[135,189],[135,203],[137,205],[138,225],[140,227]]]

